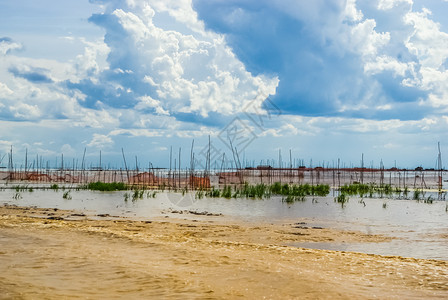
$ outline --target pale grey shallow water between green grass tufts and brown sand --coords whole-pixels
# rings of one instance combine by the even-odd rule
[[[136,219],[163,215],[195,218],[195,215],[170,213],[170,210],[189,210],[223,214],[223,217],[216,218],[251,222],[306,222],[306,226],[359,230],[397,239],[383,243],[301,243],[291,246],[448,260],[448,212],[445,201],[427,204],[414,200],[366,198],[360,202],[361,199],[352,197],[342,207],[334,202],[333,197],[308,198],[304,202],[286,204],[281,197],[263,200],[195,199],[193,193],[182,195],[167,192],[159,192],[155,198],[145,194],[143,199],[135,201],[132,195],[125,201],[125,192],[72,190],[70,200],[63,199],[63,190],[35,190],[19,194],[20,197],[15,199],[15,190],[0,191],[0,203],[82,210],[90,215],[110,214]]]

